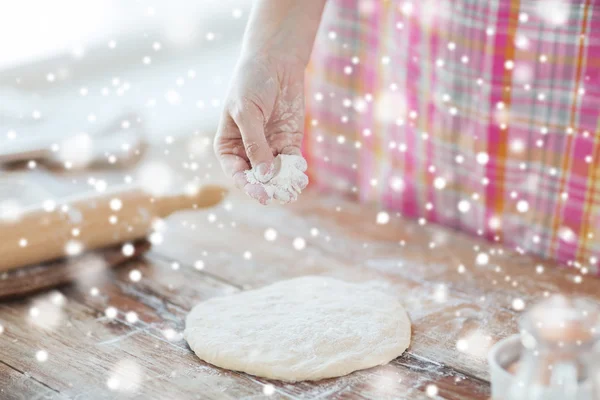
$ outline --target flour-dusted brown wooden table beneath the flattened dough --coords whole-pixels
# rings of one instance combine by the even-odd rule
[[[170,163],[180,178],[222,179],[207,152],[167,146],[166,153],[153,160]],[[90,174],[110,182],[128,173],[39,170],[4,178],[23,178],[18,196],[35,202],[89,189]],[[600,299],[599,283],[580,281],[577,271],[393,213],[377,224],[378,211],[310,191],[294,205],[265,208],[232,192],[215,209],[175,215],[143,259],[107,269],[101,279],[0,303],[0,398],[422,399],[435,385],[438,398],[487,399],[487,350],[516,332],[515,299],[528,306],[559,291]],[[264,238],[269,228],[275,241]],[[293,246],[298,237],[306,241],[301,250]],[[482,252],[489,262],[478,265]],[[130,278],[133,270],[139,281]],[[397,296],[413,323],[410,348],[388,365],[289,384],[213,367],[182,339],[194,304],[303,275],[364,282]],[[110,307],[115,318],[106,315]]]

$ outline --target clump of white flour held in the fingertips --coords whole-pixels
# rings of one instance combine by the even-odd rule
[[[265,189],[269,201],[278,200],[282,204],[296,201],[298,195],[308,184],[306,160],[301,156],[280,154],[275,157],[273,177],[261,175],[255,168],[246,171],[249,183],[258,184]],[[266,182],[265,182],[266,181]]]

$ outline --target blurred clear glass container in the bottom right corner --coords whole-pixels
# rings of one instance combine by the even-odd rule
[[[552,296],[523,316],[520,330],[508,400],[600,399],[598,303]]]

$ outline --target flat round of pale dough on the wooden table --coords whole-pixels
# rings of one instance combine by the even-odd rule
[[[307,276],[200,303],[184,335],[206,362],[295,382],[386,364],[406,350],[410,333],[394,297]]]

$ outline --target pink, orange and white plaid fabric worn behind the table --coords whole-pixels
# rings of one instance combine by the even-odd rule
[[[330,0],[311,182],[598,274],[600,1]]]

